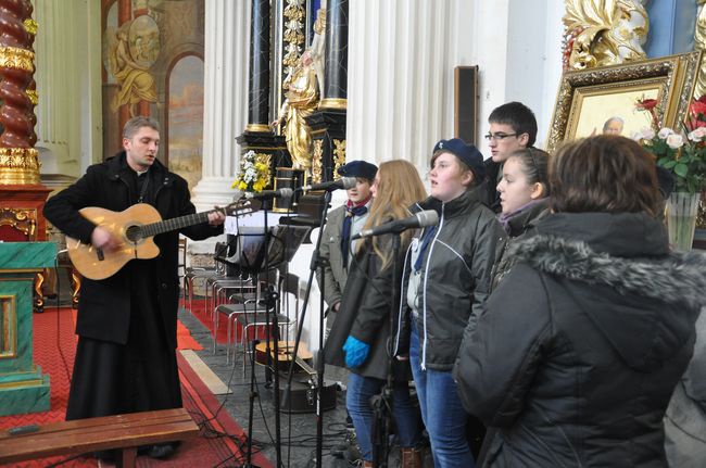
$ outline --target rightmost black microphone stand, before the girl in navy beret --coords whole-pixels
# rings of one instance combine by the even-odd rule
[[[375,408],[376,420],[374,422],[374,440],[373,445],[373,466],[378,468],[387,468],[388,458],[390,455],[390,432],[392,429],[392,405],[393,390],[394,390],[394,345],[393,332],[395,320],[395,313],[400,313],[400,232],[392,233],[392,308],[390,311],[390,337],[388,338],[388,378],[382,388],[382,394],[377,402]]]

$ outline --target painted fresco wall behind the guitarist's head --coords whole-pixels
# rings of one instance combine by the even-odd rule
[[[201,178],[204,0],[103,0],[103,154],[123,124],[162,127],[157,157],[193,185]],[[122,18],[122,20],[121,20]]]

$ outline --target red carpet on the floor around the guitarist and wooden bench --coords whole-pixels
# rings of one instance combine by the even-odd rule
[[[51,409],[43,413],[0,417],[0,429],[29,423],[45,425],[64,419],[68,397],[68,375],[73,369],[76,337],[72,309],[47,309],[43,314],[34,314],[34,353],[35,363],[48,372],[51,379]],[[186,330],[186,328],[185,328]],[[179,346],[192,346],[188,330],[182,331]],[[198,345],[198,343],[196,343]],[[192,349],[192,347],[188,347]],[[60,352],[61,351],[61,352]],[[65,356],[65,364],[62,359]],[[148,457],[138,457],[138,467],[232,467],[241,464],[243,431],[225,410],[218,412],[219,403],[199,379],[188,363],[177,353],[179,377],[184,406],[201,428],[200,435],[185,442],[172,459],[160,461]],[[12,467],[46,467],[60,463],[67,457],[52,457],[24,464],[0,465]],[[253,461],[262,467],[272,465],[264,457],[255,455]],[[94,467],[92,458],[80,457],[61,464],[62,467]]]

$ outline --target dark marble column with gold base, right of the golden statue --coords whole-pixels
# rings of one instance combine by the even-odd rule
[[[319,109],[345,109],[348,97],[349,0],[328,0],[326,9],[326,75]]]

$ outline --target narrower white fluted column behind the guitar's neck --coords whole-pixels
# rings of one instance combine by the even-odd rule
[[[248,124],[250,1],[205,2],[203,168],[193,189],[197,211],[232,200],[236,137]]]

